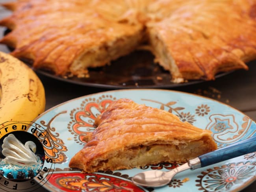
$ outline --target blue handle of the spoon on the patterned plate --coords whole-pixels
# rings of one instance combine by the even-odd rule
[[[240,155],[256,151],[256,136],[242,140],[230,146],[198,156],[201,161],[201,167],[205,167],[217,162],[232,159]]]

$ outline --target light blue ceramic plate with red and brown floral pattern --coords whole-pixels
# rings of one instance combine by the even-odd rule
[[[130,89],[100,92],[70,100],[39,116],[39,124],[52,148],[45,146],[45,159],[52,159],[52,172],[44,185],[49,191],[239,191],[256,179],[256,152],[194,171],[177,174],[169,185],[161,188],[142,188],[131,182],[131,177],[144,170],[167,171],[178,164],[153,164],[141,169],[118,170],[82,174],[70,169],[73,155],[83,148],[81,136],[93,131],[93,122],[113,100],[130,98],[176,114],[202,129],[213,132],[219,148],[256,135],[256,124],[245,114],[215,100],[183,92],[159,89]],[[45,167],[47,167],[45,161]],[[47,169],[48,170],[48,169]]]

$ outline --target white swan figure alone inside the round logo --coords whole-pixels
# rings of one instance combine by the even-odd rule
[[[24,145],[10,134],[4,138],[2,149],[2,154],[6,157],[3,161],[6,163],[21,166],[37,164],[36,145],[32,141],[27,141]]]

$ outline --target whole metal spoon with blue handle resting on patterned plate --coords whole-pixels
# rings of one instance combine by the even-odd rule
[[[194,170],[217,162],[225,161],[227,159],[232,159],[240,155],[252,153],[254,151],[256,151],[256,136],[242,140],[230,146],[220,148],[210,153],[200,155],[168,172],[157,170],[141,172],[134,175],[134,177],[132,177],[132,181],[136,185],[160,187],[170,183],[174,175],[184,170]]]

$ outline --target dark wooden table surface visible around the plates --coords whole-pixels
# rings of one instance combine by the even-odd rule
[[[6,0],[0,0],[6,2]],[[0,19],[9,15],[10,12],[0,7]],[[0,27],[0,37],[5,28]],[[9,52],[5,45],[0,45],[0,51]],[[200,94],[209,98],[213,98],[220,102],[230,105],[235,109],[247,114],[252,120],[256,120],[256,61],[248,64],[249,70],[238,70],[215,79],[215,81],[207,81],[184,87],[176,87],[172,90]],[[57,79],[48,78],[38,74],[41,79],[46,93],[46,110],[51,107],[66,102],[70,99],[102,92],[109,89],[85,87],[59,81]],[[256,192],[256,182],[252,183],[242,192]]]

